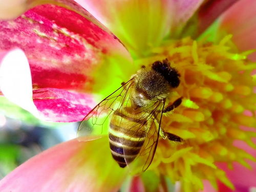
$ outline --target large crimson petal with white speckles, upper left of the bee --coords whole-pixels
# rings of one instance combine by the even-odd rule
[[[96,70],[115,76],[116,70],[110,71],[113,63],[129,69],[131,57],[113,34],[73,1],[56,2],[66,8],[41,5],[0,22],[0,49],[24,50],[33,87],[91,90]]]

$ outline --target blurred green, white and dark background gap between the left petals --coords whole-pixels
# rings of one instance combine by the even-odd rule
[[[76,138],[78,123],[49,123],[34,118],[0,97],[0,179],[29,158]]]

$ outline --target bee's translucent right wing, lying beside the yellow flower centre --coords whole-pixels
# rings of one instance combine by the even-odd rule
[[[129,164],[129,159],[125,159],[128,164],[127,166],[130,168],[132,173],[144,172],[153,161],[160,134],[164,102],[165,101],[159,101],[155,105],[151,106],[151,109],[147,109],[150,110],[150,113],[147,113],[146,115],[146,121],[149,125],[144,144],[134,162]],[[157,122],[157,119],[159,119],[159,122]],[[141,140],[143,140],[143,138]],[[129,154],[129,151],[129,149],[123,148],[124,158]],[[126,157],[129,157],[129,155]]]

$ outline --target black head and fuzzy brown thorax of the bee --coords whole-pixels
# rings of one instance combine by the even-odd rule
[[[146,106],[165,99],[172,88],[179,86],[178,72],[169,66],[167,59],[156,61],[151,67],[143,68],[134,76],[133,103],[137,107]]]

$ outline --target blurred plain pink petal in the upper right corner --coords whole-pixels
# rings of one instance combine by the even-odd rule
[[[221,30],[233,34],[240,51],[256,49],[256,1],[240,0],[221,18]],[[249,57],[256,61],[256,53]]]

